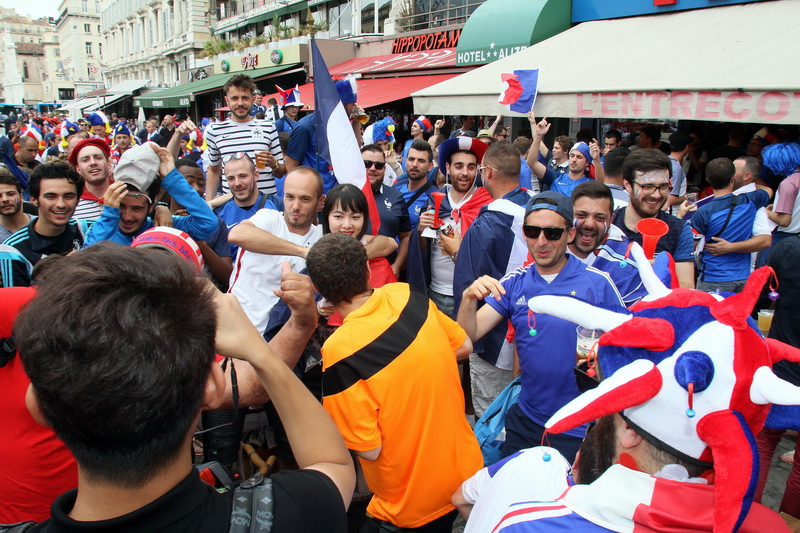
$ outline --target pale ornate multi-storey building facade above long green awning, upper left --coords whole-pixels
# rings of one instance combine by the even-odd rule
[[[100,16],[106,84],[176,85],[211,37],[208,6],[207,0],[106,0]]]

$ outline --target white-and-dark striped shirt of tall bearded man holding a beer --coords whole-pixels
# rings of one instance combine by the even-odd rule
[[[256,151],[269,150],[279,164],[283,164],[283,152],[278,140],[275,124],[254,118],[249,122],[225,120],[209,124],[206,128],[208,161],[212,167],[222,164],[226,155],[245,152],[255,161]],[[225,169],[222,169],[224,175]],[[269,167],[259,171],[258,190],[265,194],[275,194],[275,177]],[[230,192],[227,180],[222,180],[222,191]]]

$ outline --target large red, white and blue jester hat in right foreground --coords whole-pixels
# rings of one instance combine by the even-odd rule
[[[765,339],[750,317],[772,270],[756,270],[741,293],[723,299],[670,290],[639,245],[631,253],[649,295],[628,313],[567,296],[528,301],[534,312],[605,332],[596,359],[604,379],[545,426],[561,433],[620,413],[655,446],[714,468],[714,531],[736,531],[758,482],[754,435],[765,425],[800,429],[800,388],[772,373],[778,361],[800,362],[800,350]]]

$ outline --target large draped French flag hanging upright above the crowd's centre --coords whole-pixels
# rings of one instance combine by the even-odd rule
[[[311,57],[314,61],[314,109],[317,116],[317,151],[333,167],[336,181],[352,183],[367,197],[369,219],[373,235],[378,234],[381,217],[372,187],[364,170],[364,160],[358,146],[350,118],[344,110],[339,92],[317,46],[311,40]]]

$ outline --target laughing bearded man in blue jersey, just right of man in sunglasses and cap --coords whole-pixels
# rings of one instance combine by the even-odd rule
[[[614,197],[611,189],[596,181],[581,183],[572,191],[575,239],[567,250],[583,264],[611,277],[626,307],[647,295],[639,267],[630,257],[631,241],[611,223]]]

